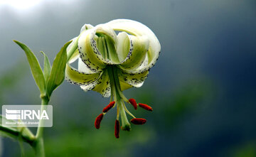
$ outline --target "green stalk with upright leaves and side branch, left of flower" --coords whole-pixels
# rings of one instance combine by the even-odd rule
[[[47,55],[41,52],[44,56],[43,70],[38,62],[38,59],[36,58],[36,55],[34,55],[31,49],[28,48],[28,46],[17,40],[14,40],[14,42],[19,45],[26,54],[28,63],[31,68],[31,73],[36,82],[36,85],[38,86],[38,90],[40,90],[41,93],[41,112],[43,112],[43,110],[46,109],[48,102],[50,101],[50,96],[53,93],[53,90],[55,90],[64,80],[65,66],[68,58],[66,49],[71,41],[65,43],[63,48],[60,49],[60,52],[56,55],[53,61],[52,67],[50,66]],[[0,115],[0,119],[3,118],[5,117]],[[0,123],[0,131],[6,132],[11,137],[17,137],[17,139],[21,140],[21,142],[27,142],[34,149],[36,156],[44,157],[45,150],[43,145],[43,123],[44,119],[40,119],[38,129],[36,131],[36,136],[34,136],[33,133],[31,133],[31,131],[26,126],[23,126],[22,128],[19,126],[16,126],[14,128],[8,128],[2,126]]]

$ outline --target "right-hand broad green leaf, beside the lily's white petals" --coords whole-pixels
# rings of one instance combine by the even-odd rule
[[[53,67],[50,71],[50,77],[47,82],[47,94],[48,97],[52,94],[53,90],[55,90],[64,80],[65,77],[65,66],[67,63],[67,47],[72,41],[65,43],[63,48],[60,49],[60,52],[56,55],[53,61]]]

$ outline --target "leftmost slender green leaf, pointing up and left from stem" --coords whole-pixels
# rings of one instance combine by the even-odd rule
[[[28,63],[31,67],[31,72],[32,72],[33,78],[36,81],[36,85],[38,85],[38,88],[39,88],[41,94],[45,94],[46,83],[45,83],[45,79],[43,77],[43,72],[41,70],[41,67],[38,63],[36,56],[25,44],[20,43],[17,40],[14,40],[14,42],[16,44],[18,44],[25,51],[26,57],[28,58]]]

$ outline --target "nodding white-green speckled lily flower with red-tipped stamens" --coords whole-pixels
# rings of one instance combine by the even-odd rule
[[[118,34],[116,32],[119,32]],[[79,85],[82,90],[94,90],[102,97],[110,97],[107,105],[95,119],[95,128],[105,114],[117,107],[114,136],[119,138],[119,117],[122,130],[129,131],[133,124],[144,124],[146,119],[131,114],[125,102],[152,111],[147,104],[137,104],[135,99],[127,99],[122,91],[130,87],[141,87],[149,75],[149,70],[159,58],[161,46],[154,33],[144,24],[127,19],[117,19],[108,23],[82,26],[80,35],[73,38],[67,48],[68,63],[65,79]],[[78,69],[70,64],[78,60]]]

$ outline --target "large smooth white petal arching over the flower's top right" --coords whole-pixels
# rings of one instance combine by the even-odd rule
[[[149,70],[156,63],[157,58],[161,50],[159,40],[155,34],[144,24],[137,21],[118,19],[107,23],[114,31],[126,31],[134,36],[147,36],[149,39],[149,50],[147,52],[149,63],[140,69],[140,72]]]

